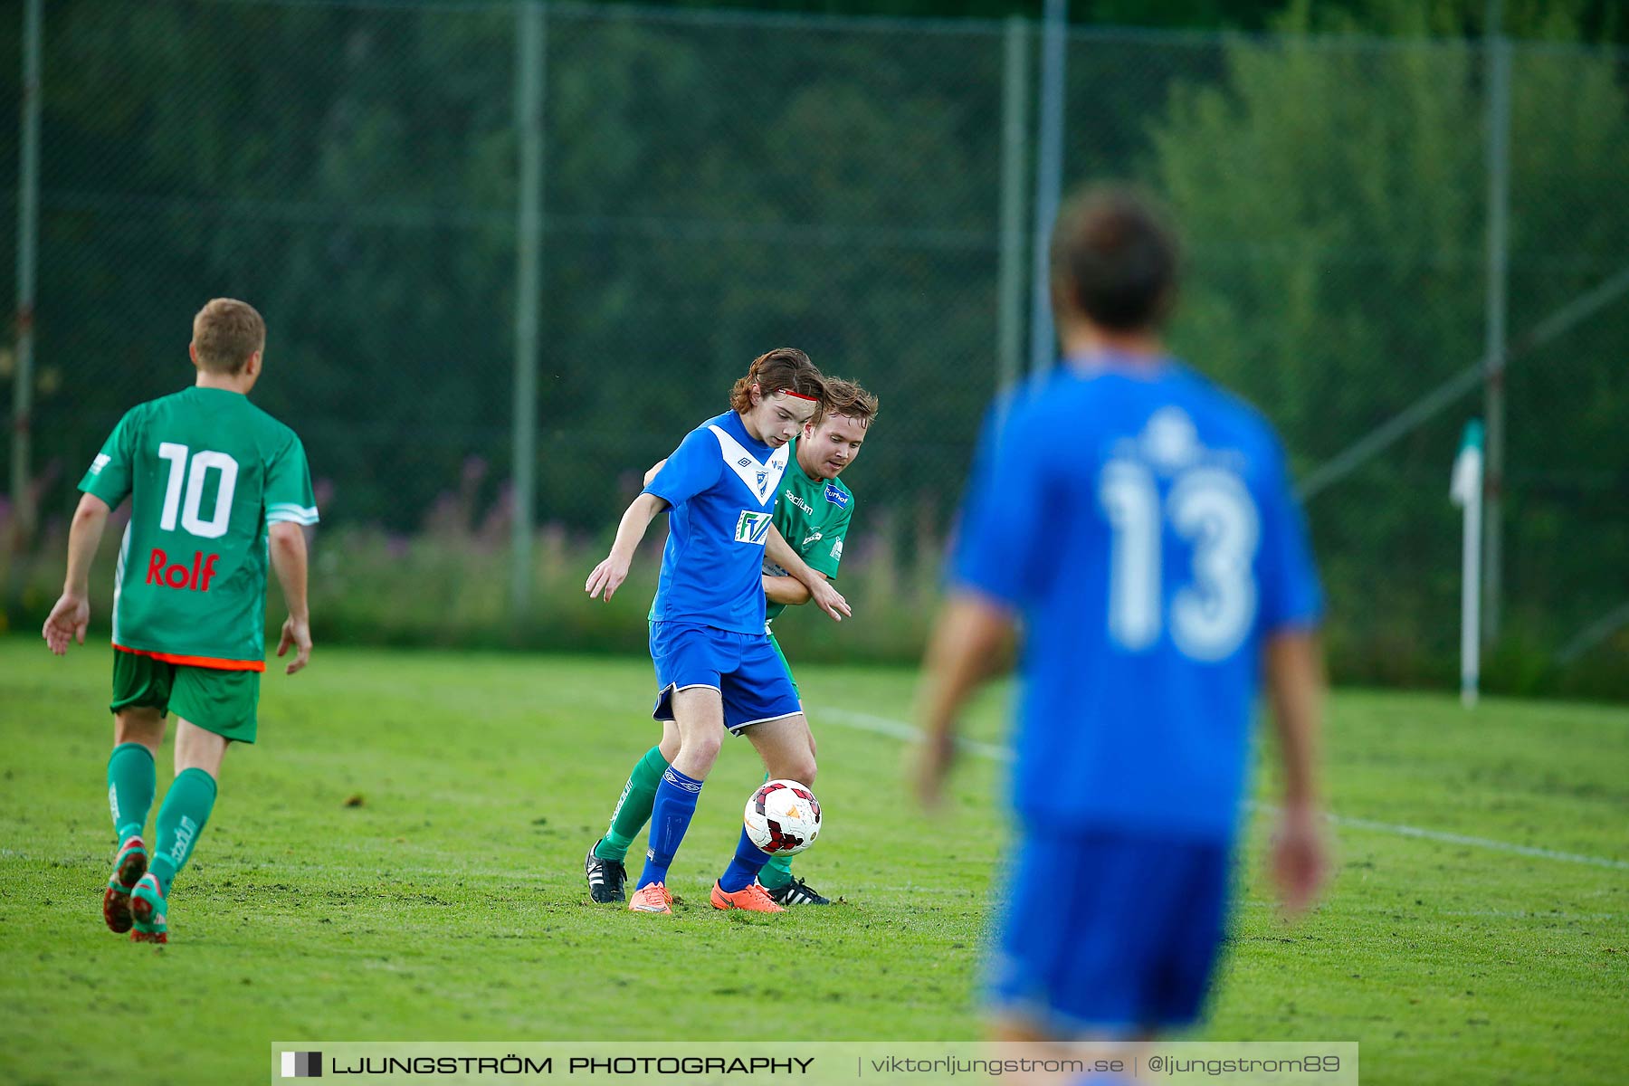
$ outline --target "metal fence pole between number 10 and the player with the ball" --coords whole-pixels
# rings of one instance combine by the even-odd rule
[[[531,606],[531,536],[538,467],[538,308],[542,282],[542,65],[544,11],[516,0],[515,129],[520,143],[520,192],[515,244],[515,521],[512,526],[510,602],[516,615]]]

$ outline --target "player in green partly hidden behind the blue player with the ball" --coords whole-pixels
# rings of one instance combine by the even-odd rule
[[[795,464],[782,475],[774,513],[775,531],[771,532],[766,549],[764,596],[769,640],[784,664],[787,658],[775,642],[774,620],[787,607],[814,601],[839,622],[849,612],[847,602],[831,586],[837,578],[844,539],[854,518],[854,493],[837,480],[837,475],[860,454],[872,418],[876,417],[876,397],[852,381],[834,378],[826,379],[826,391],[831,407],[818,425],[806,425],[793,444]],[[652,474],[660,467],[661,464],[652,467]],[[787,676],[792,676],[790,664]],[[609,829],[583,860],[593,900],[624,899],[627,881],[624,858],[629,843],[650,819],[656,786],[678,746],[676,728],[666,725],[661,742],[647,751],[629,775],[611,814]],[[792,878],[790,856],[772,856],[759,871],[757,881],[769,891],[769,897],[784,907],[831,904],[806,882]]]

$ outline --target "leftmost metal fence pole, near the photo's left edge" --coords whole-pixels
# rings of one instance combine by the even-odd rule
[[[39,252],[39,54],[44,0],[23,10],[23,153],[16,186],[16,374],[11,384],[11,510],[18,545],[34,532],[29,454],[34,414],[34,269]]]

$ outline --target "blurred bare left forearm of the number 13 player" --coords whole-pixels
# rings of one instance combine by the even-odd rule
[[[1013,615],[976,593],[950,598],[933,624],[919,692],[922,755],[917,765],[917,798],[938,804],[956,744],[956,718],[1012,637]]]

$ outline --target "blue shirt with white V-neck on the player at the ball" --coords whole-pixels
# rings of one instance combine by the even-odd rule
[[[645,487],[673,506],[652,620],[764,632],[764,544],[787,458],[733,410],[679,443]]]

